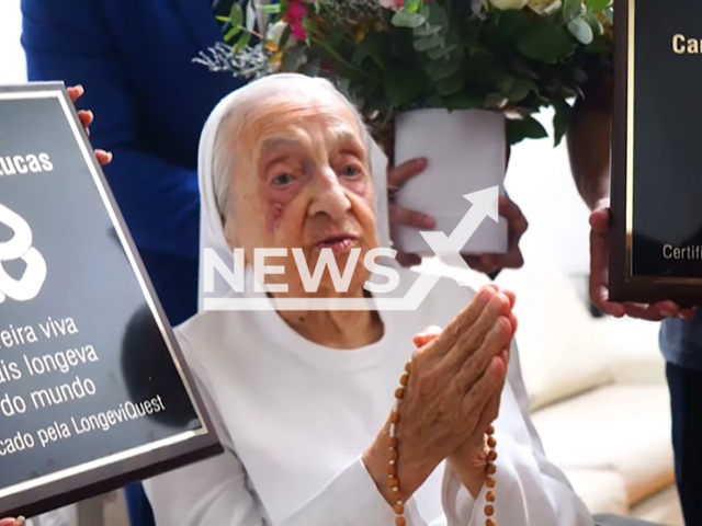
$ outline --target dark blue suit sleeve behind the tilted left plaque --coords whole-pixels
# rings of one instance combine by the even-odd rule
[[[139,151],[133,87],[99,7],[97,0],[22,0],[29,78],[86,89],[79,107],[95,115],[94,147],[114,153],[104,172],[136,244],[197,258],[197,175]]]

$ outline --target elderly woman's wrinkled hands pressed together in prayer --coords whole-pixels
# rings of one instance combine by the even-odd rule
[[[516,329],[511,305],[509,295],[485,287],[412,357],[397,427],[403,498],[409,498],[442,460],[482,435],[491,421],[487,419],[496,400],[499,407],[507,374],[503,351]],[[386,471],[388,426],[366,451],[364,462],[394,504]]]

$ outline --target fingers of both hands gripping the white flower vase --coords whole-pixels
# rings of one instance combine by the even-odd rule
[[[419,175],[427,168],[426,159],[414,159],[390,169],[387,173],[387,186],[390,196],[390,226],[412,227],[419,230],[432,230],[435,221],[431,216],[417,210],[403,208],[394,203],[394,196],[407,181]],[[517,204],[507,196],[499,199],[499,215],[507,220],[508,248],[505,254],[464,254],[463,259],[471,268],[485,274],[494,274],[502,268],[520,268],[524,264],[519,242],[529,228],[526,218]],[[451,233],[451,232],[445,232]],[[397,262],[403,266],[415,266],[421,263],[417,254],[397,253]]]

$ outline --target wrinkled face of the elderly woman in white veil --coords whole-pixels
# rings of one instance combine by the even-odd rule
[[[233,145],[229,243],[245,249],[249,264],[256,248],[287,249],[285,256],[265,259],[284,267],[265,283],[287,284],[291,296],[304,295],[302,262],[292,249],[302,249],[310,275],[322,249],[332,252],[341,275],[360,249],[349,288],[359,294],[369,276],[363,258],[378,240],[370,162],[353,112],[331,93],[269,96],[257,106]],[[332,287],[325,270],[319,295]]]

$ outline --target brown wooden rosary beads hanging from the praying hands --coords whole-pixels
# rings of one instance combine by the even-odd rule
[[[405,388],[407,387],[407,382],[409,381],[409,374],[411,373],[411,362],[408,362],[405,365],[405,373],[399,379],[399,387],[395,390],[395,405],[393,407],[393,412],[390,413],[390,431],[389,431],[389,439],[388,439],[388,450],[387,450],[387,477],[388,477],[388,485],[393,489],[393,494],[397,498],[395,503],[395,526],[406,526],[407,521],[405,519],[405,504],[403,503],[403,494],[399,489],[399,479],[397,478],[397,425],[399,424],[399,405],[405,397]],[[487,504],[485,505],[485,526],[496,526],[495,519],[495,472],[497,471],[497,466],[495,465],[495,460],[497,459],[497,451],[495,447],[497,446],[497,441],[495,439],[495,427],[490,425],[486,432],[487,435],[487,479],[485,481],[485,485],[488,491],[485,495],[485,500]]]

